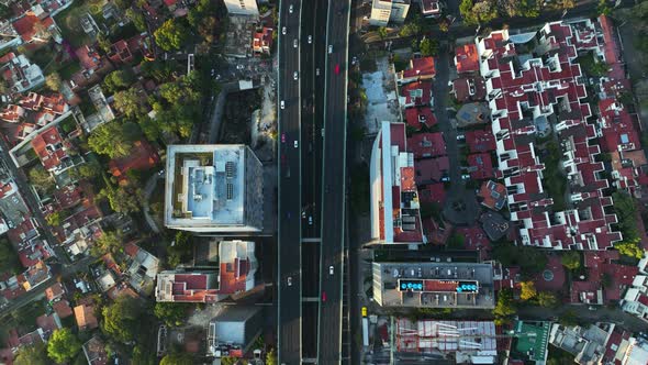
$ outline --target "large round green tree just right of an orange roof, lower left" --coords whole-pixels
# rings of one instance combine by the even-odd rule
[[[141,325],[142,307],[137,299],[122,295],[110,306],[103,307],[101,314],[103,332],[122,343],[133,341]]]

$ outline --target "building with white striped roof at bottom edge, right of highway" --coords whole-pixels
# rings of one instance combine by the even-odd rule
[[[434,353],[456,364],[500,364],[498,333],[492,321],[395,319],[398,352]],[[435,357],[436,358],[436,357]]]

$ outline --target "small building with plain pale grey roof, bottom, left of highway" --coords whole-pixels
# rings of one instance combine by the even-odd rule
[[[215,357],[243,357],[262,327],[260,307],[227,306],[210,321],[208,353]]]

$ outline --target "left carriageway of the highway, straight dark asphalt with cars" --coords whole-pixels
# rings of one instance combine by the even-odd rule
[[[278,125],[279,245],[277,250],[278,356],[301,363],[301,158],[300,123],[301,0],[281,1],[279,9]],[[286,34],[283,34],[286,29]],[[295,47],[297,45],[297,47]],[[295,80],[297,73],[297,80]],[[290,281],[289,281],[290,280]]]

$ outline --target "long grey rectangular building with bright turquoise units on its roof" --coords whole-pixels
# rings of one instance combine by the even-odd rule
[[[490,264],[375,262],[372,272],[373,299],[382,307],[495,307]]]

